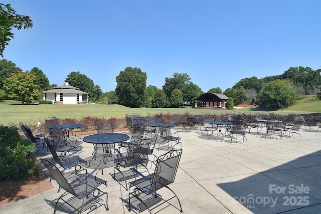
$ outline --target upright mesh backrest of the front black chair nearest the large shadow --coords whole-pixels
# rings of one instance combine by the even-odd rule
[[[181,155],[182,149],[179,149],[171,150],[157,158],[149,193],[174,182]]]

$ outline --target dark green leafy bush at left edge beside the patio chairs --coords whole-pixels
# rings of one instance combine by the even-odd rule
[[[36,146],[20,138],[15,125],[0,124],[0,180],[19,180],[39,175],[36,164]]]

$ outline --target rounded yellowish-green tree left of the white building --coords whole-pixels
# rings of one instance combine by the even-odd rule
[[[18,72],[3,81],[8,98],[30,102],[39,96],[37,77],[30,73]]]

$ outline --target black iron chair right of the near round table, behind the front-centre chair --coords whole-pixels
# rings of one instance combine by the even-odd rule
[[[146,171],[145,163],[148,158],[150,142],[132,142],[130,145],[126,147],[126,153],[121,153],[119,149],[116,149],[118,153],[118,158],[115,159],[116,166],[114,167],[114,173],[112,177],[116,180],[121,186],[123,186],[126,190],[128,190],[127,180],[134,178],[135,174],[131,169],[128,170],[120,170],[120,168],[128,168],[135,167],[138,165],[143,166]],[[123,181],[125,185],[123,184]]]

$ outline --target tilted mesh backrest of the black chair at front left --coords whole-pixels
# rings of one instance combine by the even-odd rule
[[[42,162],[45,164],[51,175],[54,177],[54,179],[57,181],[59,186],[66,191],[68,191],[70,194],[75,195],[78,197],[77,193],[74,191],[74,189],[70,186],[66,178],[63,176],[63,174],[60,172],[60,170],[51,162],[49,162],[46,159],[41,158]],[[78,197],[79,198],[79,197]]]

